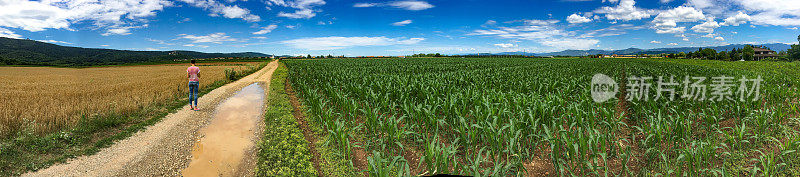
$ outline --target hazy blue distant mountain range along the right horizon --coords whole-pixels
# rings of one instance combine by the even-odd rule
[[[744,48],[745,44],[731,44],[726,46],[715,46],[715,47],[703,47],[703,48],[711,48],[717,51],[731,51],[734,48],[741,49]],[[762,44],[756,46],[765,46],[770,48],[774,51],[786,51],[791,48],[791,45],[781,44],[781,43],[774,43],[774,44]],[[561,52],[551,52],[551,53],[525,53],[525,52],[503,52],[503,53],[496,53],[496,54],[480,54],[480,55],[526,55],[526,56],[586,56],[586,55],[597,55],[597,54],[604,54],[604,55],[638,55],[638,54],[662,54],[662,53],[680,53],[680,52],[696,52],[700,47],[676,47],[676,48],[657,48],[657,49],[637,49],[637,48],[629,48],[624,50],[564,50]]]

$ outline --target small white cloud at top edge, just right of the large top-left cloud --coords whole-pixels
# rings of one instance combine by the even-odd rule
[[[241,18],[248,22],[261,21],[261,17],[250,13],[250,10],[236,5],[225,5],[215,0],[180,0],[195,7],[211,11],[211,16],[222,15],[225,18]]]

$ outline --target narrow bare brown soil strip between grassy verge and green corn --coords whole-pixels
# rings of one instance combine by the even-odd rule
[[[292,84],[289,83],[289,79],[286,79],[285,88],[286,88],[286,94],[289,95],[289,102],[292,104],[293,108],[292,115],[294,115],[294,118],[297,120],[297,124],[300,126],[300,129],[303,130],[303,137],[305,137],[306,141],[308,141],[308,150],[309,152],[311,152],[311,154],[313,154],[313,156],[311,157],[311,162],[314,163],[314,169],[317,170],[318,176],[324,176],[319,166],[321,158],[319,151],[317,151],[317,146],[315,144],[315,142],[317,142],[317,138],[314,137],[314,132],[311,131],[311,128],[308,127],[308,122],[306,122],[305,113],[302,110],[300,110],[301,106],[300,101],[297,99],[297,95],[294,89],[292,89]]]

